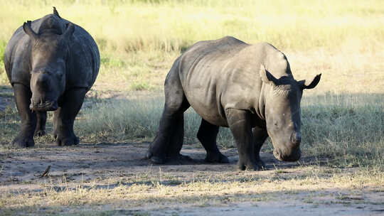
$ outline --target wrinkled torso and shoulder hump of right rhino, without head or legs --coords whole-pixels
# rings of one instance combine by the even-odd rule
[[[226,126],[225,109],[254,113],[258,107],[260,65],[275,77],[290,75],[287,58],[269,43],[225,37],[198,42],[183,53],[178,76],[191,107],[211,124]]]

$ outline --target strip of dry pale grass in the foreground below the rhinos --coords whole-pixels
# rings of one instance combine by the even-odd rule
[[[45,190],[34,193],[4,193],[0,206],[7,209],[49,206],[50,208],[78,205],[114,205],[124,208],[141,207],[151,209],[164,205],[226,205],[228,202],[255,202],[285,199],[295,193],[304,193],[300,199],[319,195],[320,191],[341,194],[341,191],[357,193],[366,188],[383,190],[384,176],[380,170],[340,173],[340,170],[302,168],[297,173],[265,171],[220,172],[210,175],[193,173],[188,180],[178,180],[178,175],[161,171],[135,176],[131,179],[109,180],[110,186],[97,187],[100,182],[64,184],[60,187],[48,185]],[[271,173],[272,172],[272,173]],[[268,175],[269,174],[269,175]],[[144,184],[143,184],[144,180]],[[381,205],[383,203],[378,203]]]

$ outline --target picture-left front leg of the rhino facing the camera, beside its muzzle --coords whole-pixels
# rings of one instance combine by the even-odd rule
[[[11,142],[11,144],[18,147],[34,146],[35,141],[33,141],[33,132],[36,128],[36,114],[31,112],[31,109],[29,109],[32,92],[29,87],[15,83],[14,97],[16,101],[18,115],[21,118],[21,126],[20,132]]]

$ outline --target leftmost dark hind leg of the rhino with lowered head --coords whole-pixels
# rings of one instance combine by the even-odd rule
[[[185,158],[180,154],[184,137],[183,113],[190,107],[190,104],[184,95],[177,70],[174,68],[166,78],[164,92],[165,104],[159,131],[146,153],[146,158],[153,163],[179,161]]]

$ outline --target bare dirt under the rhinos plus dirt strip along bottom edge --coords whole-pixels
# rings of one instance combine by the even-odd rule
[[[144,160],[148,143],[120,144],[80,144],[79,146],[59,147],[53,144],[37,144],[35,148],[18,149],[0,153],[0,193],[26,193],[44,190],[45,185],[75,187],[78,183],[96,182],[97,188],[113,188],[117,179],[134,178],[147,173],[149,177],[159,170],[167,175],[178,176],[179,180],[191,181],[194,175],[210,175],[212,173],[236,171],[238,154],[235,148],[223,151],[230,158],[229,164],[204,163],[205,151],[186,145],[181,151],[191,156],[193,161],[179,161],[166,165],[152,165]],[[297,175],[300,172],[298,163],[281,163],[270,153],[262,153],[267,163],[267,171],[255,171],[257,175],[274,175],[276,169]],[[308,161],[310,158],[304,158]],[[50,166],[46,177],[41,175]],[[145,181],[145,179],[144,179]],[[144,182],[145,183],[145,182]],[[166,184],[166,180],[162,183]],[[274,215],[384,215],[384,206],[375,203],[384,202],[384,191],[373,191],[367,188],[363,195],[354,197],[353,191],[324,190],[321,196],[313,199],[321,200],[314,204],[308,202],[308,192],[302,191],[293,195],[283,194],[278,200],[261,200],[260,202],[231,202],[219,206],[169,206],[149,205],[124,209],[103,205],[98,210],[112,210],[112,215],[140,215],[143,209],[149,215],[250,215],[251,213]],[[345,194],[348,200],[359,202],[340,202],[336,195]],[[345,200],[344,200],[345,201]],[[362,202],[363,201],[363,202]],[[76,211],[74,207],[71,211]],[[89,207],[92,210],[92,207]],[[86,208],[82,208],[82,211]],[[0,210],[1,213],[1,210]]]

